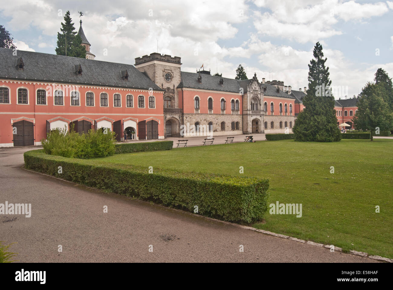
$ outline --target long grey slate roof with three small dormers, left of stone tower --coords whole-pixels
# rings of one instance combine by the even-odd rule
[[[15,65],[22,58],[24,69]],[[30,81],[56,83],[92,84],[121,88],[162,89],[133,65],[116,62],[96,61],[33,51],[17,50],[17,55],[7,48],[0,48],[0,77]],[[81,65],[82,75],[75,73],[75,66]],[[128,81],[123,80],[121,71],[127,70]]]

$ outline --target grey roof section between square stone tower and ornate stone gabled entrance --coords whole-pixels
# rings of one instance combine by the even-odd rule
[[[239,93],[239,84],[235,79],[223,77],[224,84],[220,84],[220,78],[214,75],[201,73],[202,83],[198,83],[198,73],[181,72],[181,81],[178,88],[198,88],[202,90],[216,90]]]

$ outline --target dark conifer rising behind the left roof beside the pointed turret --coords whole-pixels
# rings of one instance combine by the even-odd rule
[[[74,24],[70,17],[70,11],[64,16],[64,23],[61,22],[61,33],[57,33],[57,55],[67,55],[70,57],[86,58],[86,49],[82,46],[82,39],[75,31]]]

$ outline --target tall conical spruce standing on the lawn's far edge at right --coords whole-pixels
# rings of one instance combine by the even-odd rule
[[[319,42],[314,46],[314,59],[309,64],[309,87],[303,99],[305,108],[299,113],[293,128],[296,141],[340,141],[334,97],[330,88],[327,58],[323,58]]]

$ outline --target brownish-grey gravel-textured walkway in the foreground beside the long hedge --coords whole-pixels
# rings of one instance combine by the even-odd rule
[[[0,216],[20,262],[376,262],[27,171],[31,149],[0,149],[0,203],[31,203]]]

